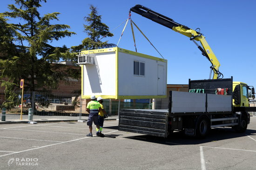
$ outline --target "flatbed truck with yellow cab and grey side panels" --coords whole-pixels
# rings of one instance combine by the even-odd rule
[[[245,132],[250,122],[249,89],[243,82],[228,79],[189,80],[191,92],[170,91],[168,110],[121,109],[119,130],[167,138],[175,130],[205,137],[211,128],[232,127]],[[222,89],[226,95],[216,94]],[[239,105],[239,106],[238,106]]]

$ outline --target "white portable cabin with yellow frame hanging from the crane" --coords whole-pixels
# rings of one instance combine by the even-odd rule
[[[166,98],[165,59],[115,47],[81,51],[78,64],[83,99]]]

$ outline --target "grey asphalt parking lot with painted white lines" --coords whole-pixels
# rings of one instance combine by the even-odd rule
[[[206,139],[174,132],[168,139],[118,131],[86,137],[80,122],[0,125],[0,169],[39,170],[255,170],[256,117],[245,133],[212,129]],[[94,126],[95,131],[95,126]]]

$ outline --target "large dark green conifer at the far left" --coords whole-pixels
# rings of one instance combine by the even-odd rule
[[[68,76],[61,68],[65,65],[50,63],[70,57],[56,55],[66,52],[67,47],[49,43],[75,33],[67,30],[69,25],[50,24],[60,13],[41,17],[37,10],[40,2],[46,0],[15,0],[18,7],[8,5],[10,12],[0,13],[0,78],[7,91],[18,88],[20,79],[25,79],[30,91],[57,88]],[[8,24],[7,18],[18,18],[22,23]]]

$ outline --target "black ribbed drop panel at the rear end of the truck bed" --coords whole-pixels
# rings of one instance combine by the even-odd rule
[[[119,130],[167,137],[168,111],[122,109],[119,115]]]

